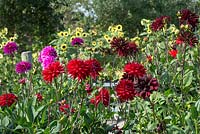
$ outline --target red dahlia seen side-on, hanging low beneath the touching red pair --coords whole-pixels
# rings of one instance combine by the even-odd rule
[[[106,88],[102,88],[98,95],[96,95],[94,98],[90,100],[90,103],[94,104],[95,106],[98,106],[98,104],[102,102],[104,106],[108,106],[110,103],[110,94]]]

